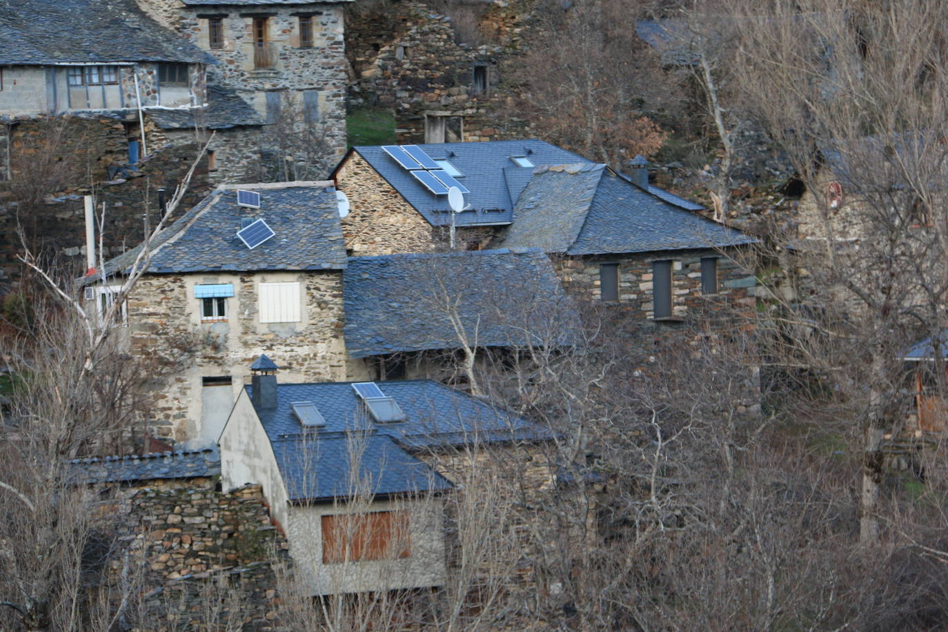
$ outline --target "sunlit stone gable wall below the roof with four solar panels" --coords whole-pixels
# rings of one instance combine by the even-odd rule
[[[346,249],[354,256],[430,252],[431,225],[392,185],[353,152],[339,167],[337,189],[349,196],[342,220]]]

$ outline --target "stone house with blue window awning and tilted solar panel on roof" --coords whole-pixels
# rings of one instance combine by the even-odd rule
[[[188,358],[169,383],[156,385],[150,424],[158,434],[214,442],[248,358],[264,352],[283,357],[293,379],[350,374],[342,339],[346,256],[330,185],[250,185],[247,201],[223,186],[152,244],[126,307],[129,344],[169,365]],[[108,262],[107,278],[126,272],[140,248]],[[97,284],[86,296],[107,301],[108,292]]]

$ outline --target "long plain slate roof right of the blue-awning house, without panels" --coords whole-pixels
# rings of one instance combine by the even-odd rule
[[[457,349],[452,314],[478,347],[570,344],[578,322],[537,248],[352,257],[343,281],[346,348],[356,358]]]

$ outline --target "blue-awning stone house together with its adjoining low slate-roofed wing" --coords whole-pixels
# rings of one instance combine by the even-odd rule
[[[141,247],[107,262],[105,278],[127,273]],[[100,278],[84,279],[99,310],[118,285]],[[347,259],[332,183],[227,185],[151,244],[121,335],[168,372],[146,434],[203,446],[261,353],[283,358],[294,381],[460,380],[465,348],[561,344],[567,309],[538,250]]]

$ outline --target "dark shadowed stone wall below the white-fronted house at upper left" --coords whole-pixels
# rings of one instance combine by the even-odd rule
[[[155,225],[156,190],[163,187],[170,197],[191,168],[197,147],[191,140],[159,149],[137,171],[116,174],[128,163],[129,134],[122,120],[111,117],[44,117],[9,127],[12,178],[0,182],[0,288],[16,282],[22,270],[16,259],[23,252],[18,223],[34,254],[58,259],[74,272],[85,270],[85,194],[95,195],[99,211],[105,203],[106,259],[141,241],[144,214]],[[205,159],[178,212],[209,190]]]

